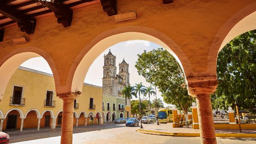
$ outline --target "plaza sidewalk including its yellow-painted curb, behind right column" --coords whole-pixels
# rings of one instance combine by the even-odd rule
[[[137,129],[137,132],[151,134],[151,135],[166,135],[166,136],[186,136],[198,137],[200,130],[180,127],[173,128],[172,123],[152,124],[150,127],[144,129]],[[237,138],[256,138],[256,130],[215,130],[216,137],[237,137]]]

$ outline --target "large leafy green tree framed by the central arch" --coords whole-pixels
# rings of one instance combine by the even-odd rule
[[[138,55],[135,67],[147,82],[157,86],[167,104],[176,104],[187,114],[192,103],[188,95],[183,71],[175,58],[163,48],[144,51]]]

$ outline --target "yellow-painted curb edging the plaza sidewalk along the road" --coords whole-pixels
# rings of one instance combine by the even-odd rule
[[[148,135],[164,135],[164,136],[183,136],[183,137],[200,137],[200,133],[172,133],[172,132],[160,132],[155,130],[141,130],[137,129],[137,132]],[[256,138],[256,134],[249,133],[215,133],[216,137],[236,137],[236,138]]]

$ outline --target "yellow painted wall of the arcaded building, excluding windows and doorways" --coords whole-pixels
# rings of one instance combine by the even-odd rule
[[[25,106],[9,105],[14,85],[23,86],[22,98],[26,98]],[[47,90],[53,91],[53,101],[56,101],[55,107],[44,107]],[[90,98],[93,98],[93,104],[96,105],[95,109],[89,109]],[[79,108],[74,109],[74,111],[77,113],[78,117],[82,112],[85,112],[86,116],[88,116],[89,112],[93,112],[95,115],[97,112],[101,113],[102,87],[84,84],[83,93],[79,98],[77,98],[77,103],[79,103]],[[62,110],[62,100],[56,97],[54,78],[52,76],[42,75],[40,72],[34,70],[17,69],[8,83],[3,101],[1,101],[0,104],[0,110],[3,112],[3,117],[6,117],[3,121],[3,130],[6,130],[6,124],[8,121],[8,115],[6,115],[6,113],[13,108],[20,110],[24,116],[30,109],[37,109],[39,117],[41,117],[40,127],[44,127],[45,115],[51,115],[49,111],[42,115],[43,112],[45,110],[51,110],[54,117],[57,117],[56,126],[61,126],[58,125],[57,114]],[[17,110],[12,110],[9,112],[9,115],[18,115],[16,128],[20,129],[20,113],[17,112]],[[21,117],[23,117],[23,115]],[[62,112],[60,112],[59,115],[62,115]],[[100,116],[102,116],[102,114],[100,114]],[[28,112],[24,119],[23,128],[36,128],[38,126],[37,117],[38,115],[34,110]],[[51,122],[52,119],[50,119],[50,125]],[[76,125],[76,116],[74,116],[74,125]],[[79,118],[79,125],[85,125],[84,115]]]

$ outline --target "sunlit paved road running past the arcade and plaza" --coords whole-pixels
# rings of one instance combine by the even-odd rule
[[[152,127],[155,124],[144,124]],[[199,137],[170,137],[136,132],[139,127],[125,124],[78,127],[73,130],[73,144],[200,144]],[[17,144],[58,144],[61,129],[10,133]],[[32,140],[35,139],[35,140]],[[29,141],[31,140],[31,141]],[[255,138],[217,138],[218,144],[255,144]]]

